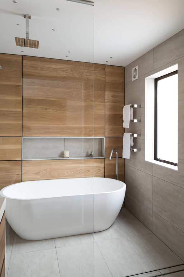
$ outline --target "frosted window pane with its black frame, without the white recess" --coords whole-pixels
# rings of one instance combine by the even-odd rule
[[[177,166],[177,70],[155,79],[154,160]]]

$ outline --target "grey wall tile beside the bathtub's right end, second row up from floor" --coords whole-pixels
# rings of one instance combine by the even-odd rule
[[[125,165],[125,172],[126,193],[152,209],[153,176],[128,165]]]

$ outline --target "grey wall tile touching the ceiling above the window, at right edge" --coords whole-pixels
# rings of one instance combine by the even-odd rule
[[[184,53],[184,29],[153,48],[153,69],[181,58]]]

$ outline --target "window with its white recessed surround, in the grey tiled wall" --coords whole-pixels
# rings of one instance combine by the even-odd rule
[[[145,161],[172,170],[178,170],[177,70],[176,63],[145,78]]]

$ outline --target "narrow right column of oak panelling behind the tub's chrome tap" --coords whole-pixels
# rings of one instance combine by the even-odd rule
[[[124,67],[105,66],[105,158],[116,148],[119,157],[119,180],[124,181],[123,109],[124,107]],[[121,159],[120,159],[121,158]],[[105,177],[116,179],[116,152],[112,159],[105,159]]]

